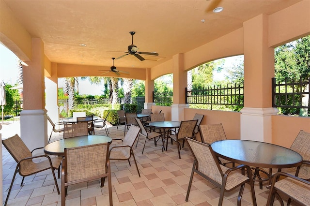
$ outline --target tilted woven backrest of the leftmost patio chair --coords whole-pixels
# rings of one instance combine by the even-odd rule
[[[31,151],[25,145],[23,140],[18,136],[18,134],[15,134],[10,138],[2,140],[2,144],[12,155],[12,157],[16,162],[19,162],[24,158],[32,156]]]

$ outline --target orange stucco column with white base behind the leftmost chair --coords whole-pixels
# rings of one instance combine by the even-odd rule
[[[23,66],[24,110],[20,112],[20,134],[32,150],[47,144],[47,116],[44,96],[44,43],[32,38],[31,61]]]

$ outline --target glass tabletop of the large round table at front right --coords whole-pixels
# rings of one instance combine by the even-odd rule
[[[211,144],[221,158],[252,167],[289,168],[301,165],[302,156],[292,149],[251,140],[220,140]]]

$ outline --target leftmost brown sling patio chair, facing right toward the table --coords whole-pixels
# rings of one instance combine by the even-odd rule
[[[42,149],[43,147],[35,148],[32,151],[28,149],[22,139],[15,134],[14,136],[2,140],[3,146],[8,150],[12,155],[14,160],[17,162],[16,169],[12,178],[12,182],[6,196],[4,205],[8,203],[9,196],[13,187],[13,183],[16,177],[16,174],[23,177],[21,180],[20,186],[23,186],[25,177],[51,169],[52,175],[54,177],[55,186],[58,194],[60,194],[57,180],[55,177],[55,169],[58,169],[58,178],[60,177],[60,165],[62,162],[62,157],[51,158],[48,155],[36,155],[32,156],[32,152],[37,149]],[[40,160],[40,162],[33,160]]]

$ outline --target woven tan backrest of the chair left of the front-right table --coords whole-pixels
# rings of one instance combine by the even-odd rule
[[[198,170],[222,185],[223,172],[210,145],[186,138],[189,148],[198,162]]]

